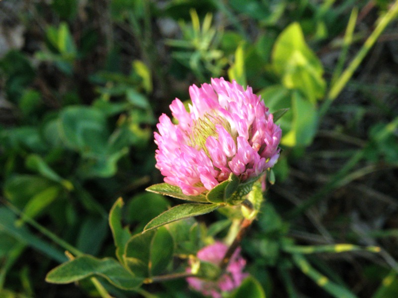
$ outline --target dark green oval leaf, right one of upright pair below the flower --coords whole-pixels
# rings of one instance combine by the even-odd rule
[[[160,275],[173,258],[174,239],[164,226],[160,227],[150,246],[149,272],[151,276]]]

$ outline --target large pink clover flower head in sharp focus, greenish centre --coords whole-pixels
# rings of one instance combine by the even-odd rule
[[[176,98],[170,109],[178,124],[163,114],[154,134],[156,167],[166,183],[199,195],[231,173],[244,181],[277,162],[281,128],[251,87],[221,77],[189,92],[190,111]]]

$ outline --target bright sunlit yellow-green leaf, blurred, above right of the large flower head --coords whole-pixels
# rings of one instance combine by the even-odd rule
[[[300,90],[310,102],[324,96],[322,64],[306,45],[298,23],[288,26],[277,38],[272,65],[287,88]]]

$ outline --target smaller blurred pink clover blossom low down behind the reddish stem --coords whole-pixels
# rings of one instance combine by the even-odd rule
[[[228,246],[222,242],[203,247],[198,251],[197,257],[201,261],[206,261],[218,265],[224,257]],[[242,281],[249,275],[243,273],[246,265],[245,259],[240,255],[240,248],[236,249],[232,255],[229,264],[217,281],[208,281],[197,277],[187,278],[191,288],[202,293],[204,296],[212,298],[221,298],[223,292],[230,293],[239,287]],[[190,269],[188,269],[189,271]]]

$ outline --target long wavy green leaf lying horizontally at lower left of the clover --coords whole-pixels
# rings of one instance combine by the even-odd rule
[[[46,281],[53,284],[69,284],[91,276],[105,278],[123,290],[138,288],[143,279],[134,276],[112,258],[97,259],[89,255],[79,256],[51,270]]]

